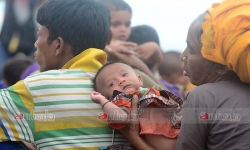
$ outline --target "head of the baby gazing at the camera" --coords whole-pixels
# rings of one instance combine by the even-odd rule
[[[94,79],[94,90],[110,99],[114,90],[130,93],[139,90],[142,84],[141,76],[136,75],[129,65],[111,62],[105,64],[97,72]]]

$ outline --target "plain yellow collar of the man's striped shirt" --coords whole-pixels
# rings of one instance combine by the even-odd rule
[[[73,57],[62,69],[82,69],[96,73],[106,63],[107,54],[97,48],[89,48]]]

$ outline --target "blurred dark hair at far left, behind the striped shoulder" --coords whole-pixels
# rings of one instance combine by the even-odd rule
[[[8,86],[16,84],[23,71],[29,67],[33,61],[28,58],[12,58],[3,67],[3,78],[8,82]]]

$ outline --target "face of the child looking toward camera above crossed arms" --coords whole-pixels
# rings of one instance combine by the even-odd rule
[[[127,10],[111,11],[111,32],[115,40],[126,41],[131,33],[131,13]]]

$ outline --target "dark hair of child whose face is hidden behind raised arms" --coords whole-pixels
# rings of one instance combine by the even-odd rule
[[[159,36],[156,30],[148,25],[139,25],[131,28],[128,41],[141,45],[147,42],[155,42],[160,45]]]

